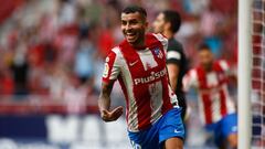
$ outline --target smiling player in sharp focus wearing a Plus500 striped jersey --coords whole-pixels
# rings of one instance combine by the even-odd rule
[[[110,109],[110,93],[119,81],[126,98],[128,136],[135,149],[182,149],[183,124],[177,96],[170,88],[161,34],[146,33],[146,10],[127,7],[121,12],[125,40],[106,57],[98,107],[102,119],[113,121],[123,107]]]

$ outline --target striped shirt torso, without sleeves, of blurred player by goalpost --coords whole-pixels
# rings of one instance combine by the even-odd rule
[[[227,89],[229,77],[218,63],[215,65],[211,72],[197,68],[199,104],[205,124],[218,121],[235,110]]]

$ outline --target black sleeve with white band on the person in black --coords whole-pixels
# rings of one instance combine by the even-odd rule
[[[173,63],[173,64],[180,64],[182,54],[181,51],[183,51],[183,47],[181,44],[178,45],[168,45],[168,53],[167,53],[167,63]]]

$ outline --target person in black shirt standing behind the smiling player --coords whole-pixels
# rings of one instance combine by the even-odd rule
[[[158,14],[152,26],[155,33],[162,33],[168,39],[167,67],[170,85],[179,99],[179,106],[182,107],[182,119],[186,115],[187,104],[182,91],[182,78],[187,72],[187,58],[183,46],[174,39],[179,31],[181,18],[177,11],[166,10]]]

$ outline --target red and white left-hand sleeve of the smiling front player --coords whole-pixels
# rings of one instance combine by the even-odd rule
[[[116,81],[120,73],[120,64],[118,56],[114,51],[110,51],[105,60],[105,67],[103,73],[103,82]]]

